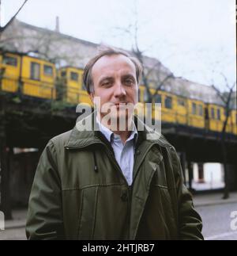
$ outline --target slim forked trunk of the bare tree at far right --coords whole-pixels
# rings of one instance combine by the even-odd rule
[[[228,82],[228,79],[225,75],[222,73],[220,74],[224,78],[225,81],[225,92],[221,93],[220,89],[217,86],[212,85],[213,89],[216,91],[216,94],[218,97],[220,97],[220,100],[222,101],[224,105],[224,112],[225,112],[225,119],[224,124],[221,131],[221,151],[223,155],[223,164],[224,164],[224,196],[223,199],[229,198],[229,178],[228,178],[228,155],[227,155],[227,148],[226,148],[226,135],[227,135],[227,125],[228,120],[231,114],[231,97],[233,94],[233,91],[236,86],[236,82],[234,82],[232,85]]]

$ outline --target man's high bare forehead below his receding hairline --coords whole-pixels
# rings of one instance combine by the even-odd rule
[[[115,72],[136,75],[134,63],[125,55],[105,55],[98,59],[92,67],[92,77],[113,75]]]

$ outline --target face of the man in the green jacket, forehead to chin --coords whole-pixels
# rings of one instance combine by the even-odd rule
[[[92,67],[92,81],[94,92],[90,96],[92,101],[100,97],[100,106],[94,101],[100,117],[110,113],[111,119],[127,119],[130,112],[126,111],[124,105],[136,105],[138,100],[134,63],[125,55],[103,56]],[[110,110],[106,108],[107,111],[103,112],[101,108],[105,104],[110,106]]]

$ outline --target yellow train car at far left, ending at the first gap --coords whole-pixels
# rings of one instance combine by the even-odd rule
[[[26,96],[55,99],[55,64],[19,53],[1,54],[1,90]]]

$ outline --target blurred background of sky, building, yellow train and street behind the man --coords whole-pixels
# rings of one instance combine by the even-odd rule
[[[235,26],[234,0],[0,0],[0,239],[25,239],[40,154],[92,105],[83,68],[103,46],[145,67],[139,101],[162,105],[205,239],[237,239]]]

